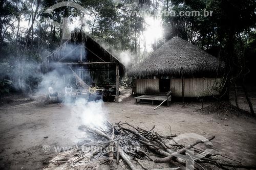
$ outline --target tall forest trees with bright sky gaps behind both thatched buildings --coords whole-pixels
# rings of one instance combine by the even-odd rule
[[[86,32],[128,68],[179,36],[225,62],[223,96],[256,72],[254,0],[72,0],[56,6],[60,3],[67,2],[0,2],[2,93],[33,92],[41,81],[42,60],[73,29]],[[193,16],[193,11],[208,15]]]

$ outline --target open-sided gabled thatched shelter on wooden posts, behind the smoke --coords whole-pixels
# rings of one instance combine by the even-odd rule
[[[88,84],[91,81],[96,85],[114,82],[118,102],[119,77],[124,75],[124,65],[81,30],[73,31],[70,40],[46,57],[45,65],[48,65],[48,69],[70,66]],[[103,81],[107,79],[105,77],[108,80]]]

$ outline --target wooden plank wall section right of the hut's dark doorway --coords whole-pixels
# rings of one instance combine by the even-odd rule
[[[185,97],[198,97],[211,95],[208,89],[216,85],[216,81],[221,79],[215,78],[191,78],[184,79],[184,96]],[[171,79],[170,90],[173,96],[182,96],[182,79]]]

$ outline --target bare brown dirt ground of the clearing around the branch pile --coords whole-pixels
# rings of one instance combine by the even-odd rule
[[[124,90],[125,96],[130,90]],[[135,104],[132,97],[122,96],[122,102],[104,103],[107,118],[134,126],[151,128],[161,134],[197,133],[205,137],[215,135],[214,150],[243,164],[256,164],[256,119],[250,116],[205,113],[201,103],[173,103],[170,107]],[[252,96],[256,110],[255,94]],[[243,94],[239,94],[241,108],[248,110]],[[212,103],[204,103],[204,107]],[[73,116],[69,107],[45,105],[38,100],[25,100],[0,107],[0,169],[42,169],[56,154],[54,149],[44,152],[42,147],[73,146],[81,141],[78,127],[80,117]]]

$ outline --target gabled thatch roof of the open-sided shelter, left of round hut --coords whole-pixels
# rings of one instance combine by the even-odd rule
[[[100,70],[102,69],[102,64],[98,65],[97,62],[112,62],[114,64],[109,64],[108,67],[115,70],[115,64],[118,64],[119,74],[123,76],[125,66],[115,56],[105,50],[97,41],[79,29],[74,30],[71,33],[71,39],[59,46],[57,50],[46,58],[49,58],[50,63],[79,62],[81,46],[86,53],[85,57],[83,54],[82,62],[96,63],[88,65],[88,69]]]

